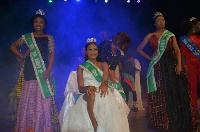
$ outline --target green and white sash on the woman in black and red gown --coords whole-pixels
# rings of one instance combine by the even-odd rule
[[[149,67],[147,71],[147,76],[146,76],[148,93],[154,92],[157,90],[155,76],[154,76],[154,65],[158,62],[158,60],[163,55],[166,49],[168,40],[171,36],[174,36],[174,34],[166,30],[158,40],[158,50],[157,50],[158,54],[151,59],[151,62],[149,63]]]

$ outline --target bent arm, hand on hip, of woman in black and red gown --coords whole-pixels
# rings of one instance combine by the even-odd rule
[[[137,52],[141,54],[143,57],[147,58],[148,60],[151,60],[151,57],[143,51],[143,48],[149,43],[151,36],[152,36],[152,33],[149,33],[148,35],[146,35],[142,43],[137,48]]]

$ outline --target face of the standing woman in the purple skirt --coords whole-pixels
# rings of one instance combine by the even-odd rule
[[[45,27],[44,19],[41,17],[36,17],[33,23],[35,31],[43,31]]]

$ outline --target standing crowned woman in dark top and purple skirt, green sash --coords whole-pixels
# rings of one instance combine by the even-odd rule
[[[52,76],[54,39],[43,32],[47,20],[41,9],[32,17],[32,23],[35,31],[22,35],[10,46],[21,63],[19,77],[24,79],[22,87],[18,85],[17,88],[19,100],[15,131],[59,131]]]

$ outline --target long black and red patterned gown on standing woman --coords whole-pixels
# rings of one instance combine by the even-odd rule
[[[158,39],[153,35],[150,44],[157,51]],[[165,52],[154,65],[157,90],[147,94],[147,123],[156,130],[186,130],[194,127],[190,86],[184,74],[177,75],[176,55],[169,39]]]

